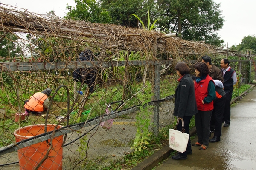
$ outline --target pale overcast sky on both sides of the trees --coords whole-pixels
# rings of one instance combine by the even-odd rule
[[[221,39],[228,46],[239,45],[248,35],[256,35],[256,0],[214,0],[221,3],[224,26],[218,31]],[[37,14],[46,14],[53,10],[59,17],[64,17],[68,12],[67,3],[76,6],[74,0],[0,0],[0,3],[28,9]]]

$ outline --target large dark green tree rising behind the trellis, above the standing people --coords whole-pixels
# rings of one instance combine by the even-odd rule
[[[223,26],[220,4],[212,0],[157,0],[159,24],[178,32],[184,40],[221,45],[217,31]]]

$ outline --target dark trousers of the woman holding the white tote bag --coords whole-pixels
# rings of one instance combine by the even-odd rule
[[[187,134],[189,134],[189,135],[190,135],[190,133],[189,133],[189,124],[190,124],[190,119],[191,119],[192,117],[193,117],[193,116],[184,116],[184,117],[183,117],[185,133],[187,133]],[[177,130],[179,130],[179,131],[182,130],[181,120],[179,121]],[[190,142],[190,136],[189,136],[189,142],[188,142],[186,151],[183,152],[183,153],[180,153],[180,152],[179,152],[179,154],[180,154],[180,155],[187,155],[187,152],[192,152],[192,149],[191,149],[191,142]]]

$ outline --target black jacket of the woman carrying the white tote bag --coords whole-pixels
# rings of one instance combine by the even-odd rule
[[[174,116],[183,118],[198,113],[195,101],[194,82],[190,74],[185,74],[175,90]]]

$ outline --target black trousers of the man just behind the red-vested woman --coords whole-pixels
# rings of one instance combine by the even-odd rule
[[[221,136],[222,119],[225,108],[226,95],[220,99],[216,98],[213,102],[213,111],[210,130],[214,130],[214,136]]]

